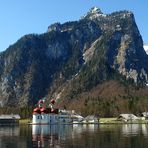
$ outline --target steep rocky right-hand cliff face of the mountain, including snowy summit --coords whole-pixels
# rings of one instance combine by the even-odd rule
[[[109,65],[119,73],[132,78],[135,83],[147,82],[147,55],[132,12],[121,11],[104,15],[93,8],[84,19],[95,21],[106,38],[106,58]],[[99,47],[100,48],[100,47]]]

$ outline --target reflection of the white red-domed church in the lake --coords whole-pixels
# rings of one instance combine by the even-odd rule
[[[71,126],[68,125],[32,125],[33,147],[58,145],[60,140],[65,140],[70,134]]]

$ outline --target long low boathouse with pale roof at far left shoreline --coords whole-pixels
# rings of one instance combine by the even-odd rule
[[[0,124],[18,124],[19,115],[0,115]]]

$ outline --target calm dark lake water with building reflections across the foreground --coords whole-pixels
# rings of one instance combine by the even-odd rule
[[[147,124],[0,126],[0,148],[148,148]]]

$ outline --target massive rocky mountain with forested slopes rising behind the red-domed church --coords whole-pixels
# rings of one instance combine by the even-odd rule
[[[148,95],[147,65],[133,13],[93,7],[80,20],[25,35],[0,54],[0,104],[21,107],[53,97],[83,112],[109,112],[115,104],[119,111],[128,102],[127,111]]]

